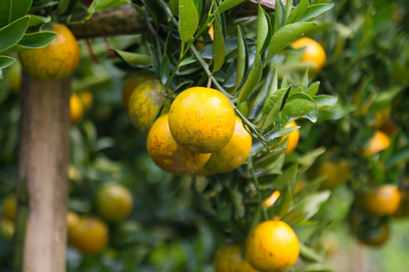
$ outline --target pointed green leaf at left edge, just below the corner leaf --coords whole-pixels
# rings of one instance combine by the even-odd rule
[[[30,18],[25,16],[0,29],[0,53],[17,44],[27,30]]]

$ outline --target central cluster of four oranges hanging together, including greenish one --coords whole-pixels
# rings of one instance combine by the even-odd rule
[[[169,105],[154,77],[133,75],[124,85],[123,101],[136,129],[148,134],[147,150],[162,170],[224,173],[241,166],[250,153],[251,135],[231,102],[214,89],[190,88]]]

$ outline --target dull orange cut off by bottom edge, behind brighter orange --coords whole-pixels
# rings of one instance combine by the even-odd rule
[[[257,272],[242,256],[242,244],[223,245],[217,249],[214,256],[215,272]]]

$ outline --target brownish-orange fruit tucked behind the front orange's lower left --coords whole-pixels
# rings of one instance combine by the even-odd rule
[[[155,121],[148,133],[146,147],[155,164],[174,175],[194,174],[205,166],[211,155],[180,146],[169,130],[169,114]]]

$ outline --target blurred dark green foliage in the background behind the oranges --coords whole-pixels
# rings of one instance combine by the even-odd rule
[[[317,0],[311,4],[329,2]],[[351,218],[365,220],[354,205],[356,192],[385,183],[406,189],[408,186],[403,177],[408,175],[409,158],[409,15],[404,0],[346,0],[334,4],[307,35],[322,44],[327,55],[324,69],[310,80],[321,83],[319,94],[337,96],[338,102],[322,112],[317,123],[297,121],[301,126],[300,141],[294,154],[285,161],[293,163],[304,158],[312,163],[324,151],[321,148],[326,150],[310,170],[311,164],[305,163],[294,172],[297,184],[294,182],[294,187],[306,188],[298,195],[300,199],[313,192],[324,196],[325,191],[316,192],[323,180],[316,175],[321,161],[331,158],[351,164],[351,179],[331,189],[331,194],[321,201],[324,204],[316,207],[314,217],[294,224],[294,230],[301,241],[314,248],[310,261],[324,259],[324,265],[336,267],[334,271],[352,271],[358,241]],[[255,23],[246,22],[244,32],[255,36]],[[96,216],[96,190],[105,183],[117,182],[131,191],[134,209],[125,221],[108,223],[110,242],[102,254],[87,256],[68,246],[67,271],[135,271],[135,267],[146,272],[214,271],[216,248],[226,240],[238,238],[253,219],[235,220],[240,211],[230,202],[243,197],[233,196],[237,187],[248,189],[243,172],[211,178],[176,177],[159,170],[150,159],[145,148],[146,136],[135,130],[122,103],[122,88],[128,77],[124,70],[129,70],[107,50],[111,47],[128,50],[145,44],[147,39],[139,34],[80,42],[82,59],[73,91],[90,92],[93,102],[70,131],[68,207],[80,215]],[[270,65],[278,68],[280,81],[285,76],[295,85],[302,83],[305,64],[299,57],[300,53],[290,48],[274,57]],[[14,79],[19,69],[18,63],[13,64],[5,70],[5,81],[0,82],[2,202],[14,194],[16,183],[20,112],[19,88],[15,87]],[[384,131],[393,144],[380,154],[362,155],[376,130]],[[311,151],[315,154],[310,153],[312,159],[308,160],[310,157],[305,154]],[[213,200],[209,201],[214,197],[210,182],[213,182],[210,188],[223,190],[224,194],[216,207],[217,215]],[[260,182],[263,185],[263,179]],[[233,189],[229,190],[229,186]],[[267,187],[263,197],[273,189]],[[254,199],[244,201],[248,201],[250,210],[257,209]],[[390,225],[390,238],[383,247],[366,251],[365,271],[404,272],[409,252],[408,218],[380,220]],[[10,271],[10,233],[14,227],[4,215],[0,222],[0,271]],[[304,252],[305,257],[308,259],[308,253]],[[300,260],[296,267],[302,266]],[[319,268],[309,271],[324,271]]]

